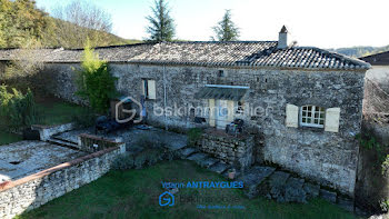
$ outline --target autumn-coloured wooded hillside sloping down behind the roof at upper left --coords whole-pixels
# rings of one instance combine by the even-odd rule
[[[52,18],[33,0],[0,0],[0,48],[82,48],[87,38],[92,47],[139,42]]]

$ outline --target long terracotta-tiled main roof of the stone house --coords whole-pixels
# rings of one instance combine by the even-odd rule
[[[280,67],[308,69],[369,69],[370,64],[315,47],[278,49],[277,41],[190,41],[100,47],[94,50],[109,62],[218,67]],[[12,60],[19,49],[0,50],[0,60]],[[80,62],[82,49],[33,51],[46,62]]]

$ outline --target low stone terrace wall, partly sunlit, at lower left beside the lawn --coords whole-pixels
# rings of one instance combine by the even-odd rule
[[[107,173],[120,147],[109,148],[29,177],[0,183],[0,218],[13,218]]]

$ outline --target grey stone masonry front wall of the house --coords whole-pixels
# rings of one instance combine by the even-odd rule
[[[72,64],[59,64],[58,68],[70,69],[70,66]],[[183,113],[173,111],[179,107],[208,107],[208,100],[194,98],[194,93],[206,84],[249,87],[243,98],[246,112],[240,118],[245,120],[245,130],[257,133],[262,141],[253,149],[257,151],[256,161],[277,163],[319,183],[353,195],[359,150],[355,135],[360,132],[365,70],[126,63],[111,63],[110,68],[119,78],[118,90],[136,99],[140,99],[142,79],[156,80],[157,99],[146,101],[148,121],[169,127],[194,126],[189,110]],[[226,77],[219,77],[219,70],[223,70]],[[61,82],[58,83],[60,87],[52,90],[59,97],[71,99],[74,90],[69,82],[71,73],[56,70],[51,72],[61,74],[54,76]],[[287,128],[287,103],[339,107],[339,132],[326,132],[320,128]],[[172,113],[164,116],[161,111],[163,108],[170,108]],[[208,120],[207,111],[197,116]]]

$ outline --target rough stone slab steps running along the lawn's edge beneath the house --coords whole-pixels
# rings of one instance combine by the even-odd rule
[[[228,178],[230,165],[190,147],[181,149],[180,155],[183,159],[192,160],[199,166]],[[253,166],[245,172],[237,172],[236,176],[237,181],[243,181],[243,193],[250,199],[263,196],[278,202],[306,203],[310,199],[320,197],[346,210],[353,211],[355,205],[351,198],[338,196],[332,190],[276,167]]]

